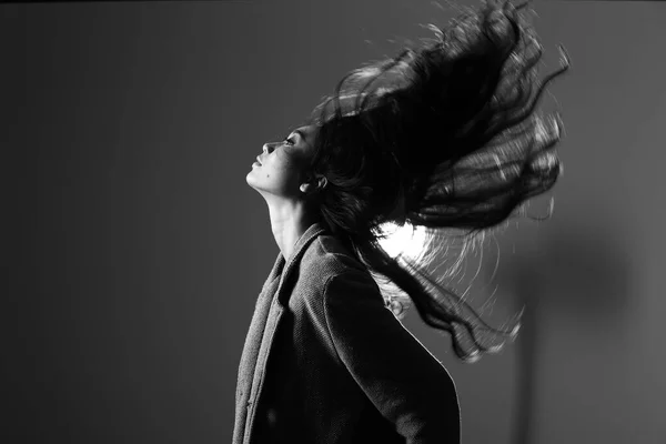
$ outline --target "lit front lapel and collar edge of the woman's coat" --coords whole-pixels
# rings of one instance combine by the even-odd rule
[[[323,231],[324,228],[320,223],[310,225],[296,241],[289,262],[284,260],[282,253],[278,254],[273,269],[258,297],[239,366],[234,444],[250,441],[254,404],[261,393],[263,371],[270,355],[273,334],[278,330],[291,295],[290,276],[299,266],[307,245]]]

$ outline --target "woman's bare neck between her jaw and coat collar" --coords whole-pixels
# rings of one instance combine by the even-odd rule
[[[297,204],[269,205],[269,213],[275,243],[285,261],[289,262],[296,242],[316,222],[316,219],[311,216],[300,202]]]

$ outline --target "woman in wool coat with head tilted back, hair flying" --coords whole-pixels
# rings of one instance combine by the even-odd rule
[[[424,226],[431,243],[437,229],[472,241],[555,184],[561,122],[534,109],[568,61],[536,79],[524,6],[488,2],[433,27],[434,42],[352,71],[305,124],[264,145],[246,182],[280,253],[241,357],[234,443],[460,442],[452,379],[396,316],[413,303],[468,362],[519,324],[490,327],[425,261],[379,241],[386,223]]]

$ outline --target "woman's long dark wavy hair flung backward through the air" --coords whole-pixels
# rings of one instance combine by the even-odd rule
[[[522,312],[491,327],[425,270],[434,254],[392,258],[380,241],[387,223],[407,223],[426,230],[434,253],[445,229],[463,230],[466,250],[555,184],[562,120],[534,110],[568,58],[559,47],[562,68],[537,79],[542,47],[518,12],[526,4],[488,0],[445,29],[431,24],[434,42],[351,71],[306,121],[317,127],[309,171],[327,179],[310,201],[321,220],[379,283],[397,285],[381,289],[398,317],[413,303],[466,362],[498,351],[498,336],[515,339]]]

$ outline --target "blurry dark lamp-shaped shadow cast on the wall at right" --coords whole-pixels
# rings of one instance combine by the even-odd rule
[[[507,282],[501,285],[514,292],[518,307],[525,306],[514,345],[517,393],[509,442],[533,444],[535,375],[545,321],[577,320],[594,329],[623,325],[629,296],[628,255],[617,233],[565,221],[548,225],[536,254],[512,256],[507,262],[503,273]]]

